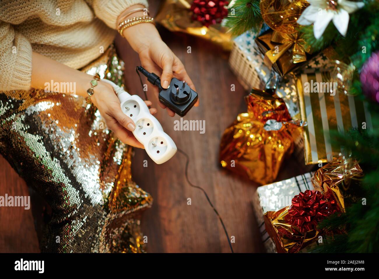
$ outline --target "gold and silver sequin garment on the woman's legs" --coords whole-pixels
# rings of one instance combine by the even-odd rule
[[[82,71],[123,85],[110,47]],[[0,153],[46,200],[42,252],[145,252],[138,213],[152,197],[132,180],[132,147],[79,96],[0,92]]]

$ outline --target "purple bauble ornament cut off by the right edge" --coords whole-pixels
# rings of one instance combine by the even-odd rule
[[[363,94],[379,103],[379,52],[374,52],[360,71]]]

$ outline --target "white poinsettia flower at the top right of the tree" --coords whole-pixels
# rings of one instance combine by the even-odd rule
[[[348,0],[307,0],[310,6],[305,8],[298,19],[300,25],[313,23],[313,34],[316,39],[321,38],[330,20],[337,30],[346,36],[349,24],[349,14],[362,8],[363,2],[352,2]]]

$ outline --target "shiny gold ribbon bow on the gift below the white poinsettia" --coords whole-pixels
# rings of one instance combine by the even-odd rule
[[[275,63],[291,46],[293,63],[300,63],[307,61],[307,55],[305,52],[310,53],[310,46],[307,46],[305,40],[298,35],[298,32],[285,34],[277,31],[273,31],[271,41],[274,43],[280,43],[278,46],[274,46],[272,49],[266,52],[266,57],[269,58],[271,63]]]

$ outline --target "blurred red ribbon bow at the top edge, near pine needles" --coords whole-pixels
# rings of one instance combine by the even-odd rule
[[[221,0],[194,0],[191,5],[192,20],[200,21],[206,27],[220,23],[228,15],[225,8],[229,3]]]

